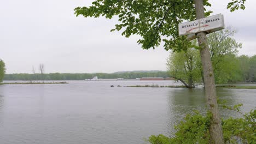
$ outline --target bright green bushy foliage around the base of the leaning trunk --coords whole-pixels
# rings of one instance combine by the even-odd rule
[[[240,105],[224,108],[234,110],[239,113]],[[241,113],[242,114],[242,113]],[[254,143],[256,141],[256,110],[242,114],[242,118],[222,119],[222,127],[224,133],[225,143]],[[175,128],[177,130],[174,137],[167,137],[164,135],[152,135],[148,141],[152,144],[167,144],[167,143],[209,143],[210,141],[210,112],[203,116],[198,111],[194,115],[187,115],[181,123]]]

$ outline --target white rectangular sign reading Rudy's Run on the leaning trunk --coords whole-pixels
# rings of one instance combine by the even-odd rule
[[[195,33],[212,33],[225,28],[222,14],[205,17],[203,19],[179,23],[179,35],[188,35],[188,40],[195,39]]]

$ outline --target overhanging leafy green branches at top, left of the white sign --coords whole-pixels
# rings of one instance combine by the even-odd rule
[[[204,6],[211,6],[203,0]],[[111,31],[123,30],[122,35],[141,35],[137,41],[143,49],[159,46],[164,42],[166,50],[187,49],[186,36],[179,37],[178,23],[195,20],[194,2],[191,0],[96,0],[90,7],[75,8],[75,14],[84,17],[112,19],[118,16],[119,24]],[[211,11],[206,12],[206,16]]]

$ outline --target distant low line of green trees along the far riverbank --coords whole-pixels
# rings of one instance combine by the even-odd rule
[[[158,72],[124,72],[124,73],[84,73],[84,74],[70,74],[70,73],[50,73],[50,74],[5,74],[4,80],[22,80],[22,81],[43,81],[43,80],[85,80],[92,79],[97,76],[100,79],[136,79],[137,77],[168,77],[166,71]]]

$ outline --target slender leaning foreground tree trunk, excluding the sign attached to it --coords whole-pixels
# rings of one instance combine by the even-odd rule
[[[203,9],[203,0],[194,0],[196,9],[196,19],[205,17]],[[212,113],[210,125],[210,143],[223,144],[222,124],[219,118],[219,110],[217,104],[216,87],[214,82],[214,74],[211,62],[210,51],[207,43],[205,32],[197,33],[197,41],[200,46],[200,55],[203,69],[203,79],[205,82],[206,103],[208,109]]]

